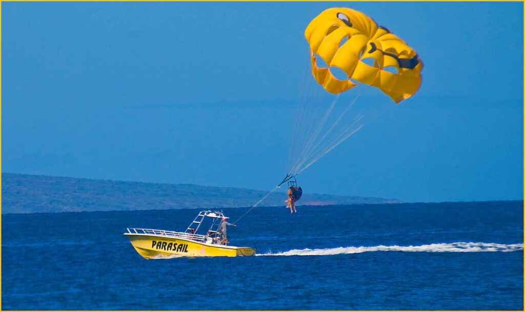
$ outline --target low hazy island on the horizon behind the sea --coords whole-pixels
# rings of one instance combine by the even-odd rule
[[[2,174],[2,213],[80,212],[251,207],[268,191],[191,184],[162,184]],[[260,206],[285,206],[284,192]],[[397,199],[305,193],[299,205],[400,203]]]

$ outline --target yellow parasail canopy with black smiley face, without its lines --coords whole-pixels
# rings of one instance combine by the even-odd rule
[[[421,86],[423,62],[416,51],[361,12],[324,10],[310,22],[304,36],[310,44],[313,77],[328,92],[349,90],[356,86],[354,80],[381,89],[399,103]],[[317,57],[329,67],[318,67]],[[349,79],[335,78],[330,71],[334,67]]]

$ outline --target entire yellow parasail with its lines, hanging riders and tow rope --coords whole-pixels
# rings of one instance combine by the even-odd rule
[[[359,94],[355,94],[352,101],[340,101],[340,95],[352,93],[345,91],[368,85],[400,103],[411,98],[421,87],[423,61],[417,52],[361,12],[350,8],[324,10],[310,21],[304,37],[310,46],[310,61],[305,62],[308,71],[299,99],[287,174],[238,220],[286,182],[289,187],[287,207],[291,212],[292,209],[297,212],[295,202],[301,198],[302,188],[297,186],[296,176],[364,126],[362,114],[350,113]],[[326,66],[322,66],[322,62]],[[306,79],[310,72],[314,80]],[[310,81],[316,88],[308,87]],[[333,94],[335,98],[324,105],[322,113],[323,100],[328,98],[326,95]],[[338,101],[344,101],[346,105],[340,107],[336,105]]]

